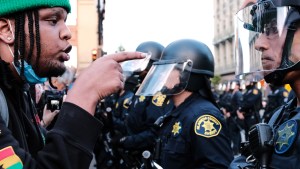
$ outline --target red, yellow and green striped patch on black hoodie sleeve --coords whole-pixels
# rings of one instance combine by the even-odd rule
[[[0,166],[3,169],[22,169],[23,163],[14,149],[9,146],[0,150]]]

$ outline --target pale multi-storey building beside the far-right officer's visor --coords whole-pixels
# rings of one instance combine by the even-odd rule
[[[234,15],[244,0],[214,0],[214,55],[215,74],[222,82],[234,79]]]

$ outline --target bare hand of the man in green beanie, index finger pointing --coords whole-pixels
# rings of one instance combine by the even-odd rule
[[[120,52],[98,58],[80,73],[66,102],[71,102],[94,115],[98,100],[116,93],[124,87],[120,62],[143,59],[141,52]]]

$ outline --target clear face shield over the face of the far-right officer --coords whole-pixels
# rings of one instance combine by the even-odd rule
[[[236,14],[237,78],[259,81],[300,60],[299,56],[283,54],[288,16],[289,7],[274,7],[271,1],[245,7]]]

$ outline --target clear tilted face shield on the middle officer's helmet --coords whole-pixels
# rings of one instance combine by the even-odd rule
[[[176,95],[184,91],[190,78],[191,60],[164,60],[154,62],[136,95]]]

